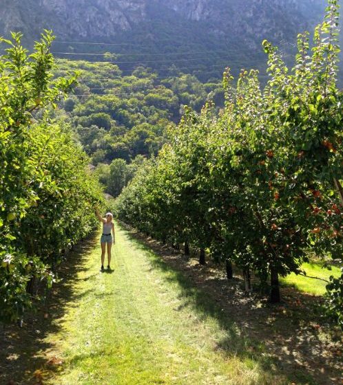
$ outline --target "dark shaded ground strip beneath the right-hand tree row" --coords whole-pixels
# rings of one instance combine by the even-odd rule
[[[318,327],[320,315],[315,314],[320,308],[313,305],[313,296],[283,289],[286,301],[268,305],[265,298],[245,295],[239,278],[228,281],[224,274],[213,276],[211,266],[190,264],[189,259],[134,230],[126,229],[125,235],[135,248],[146,252],[153,269],[180,287],[183,304],[175,311],[192,307],[200,319],[214,318],[225,330],[225,338],[214,350],[248,364],[256,362],[263,371],[284,375],[289,384],[340,382],[342,360],[326,354],[323,330]],[[290,305],[293,295],[298,301],[294,306]]]

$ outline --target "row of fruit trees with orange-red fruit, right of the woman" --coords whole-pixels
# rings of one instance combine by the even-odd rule
[[[224,73],[225,108],[186,109],[158,157],[116,201],[118,217],[161,241],[185,243],[254,272],[270,300],[279,276],[300,273],[309,251],[342,261],[343,95],[337,88],[337,1],[329,1],[310,48],[298,36],[289,69],[270,43],[269,82]],[[343,325],[343,277],[328,286]]]

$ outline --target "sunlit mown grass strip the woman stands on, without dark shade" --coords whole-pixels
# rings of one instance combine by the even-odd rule
[[[99,253],[45,339],[63,362],[45,384],[290,384],[259,342],[214,316],[221,309],[204,292],[125,230],[117,226],[114,272],[99,272]]]

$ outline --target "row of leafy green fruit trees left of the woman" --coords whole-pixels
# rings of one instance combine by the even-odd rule
[[[48,118],[75,81],[53,78],[52,40],[46,32],[29,55],[20,34],[1,39],[0,322],[45,296],[66,251],[96,225],[102,196],[70,129]]]

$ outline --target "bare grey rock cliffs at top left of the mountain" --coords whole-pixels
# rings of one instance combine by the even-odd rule
[[[49,28],[61,38],[113,37],[146,19],[147,1],[1,0],[0,32],[21,30],[37,37]]]

